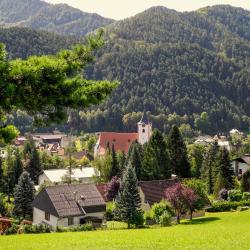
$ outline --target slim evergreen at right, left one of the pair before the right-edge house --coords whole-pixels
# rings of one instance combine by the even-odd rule
[[[207,190],[209,194],[214,193],[214,186],[217,181],[218,152],[219,152],[219,146],[217,142],[215,142],[208,148],[207,153],[205,155],[205,159],[202,164],[201,176],[206,181]]]

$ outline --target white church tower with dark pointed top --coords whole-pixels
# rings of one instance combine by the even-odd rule
[[[138,125],[138,142],[145,144],[149,141],[152,135],[152,123],[149,122],[147,113],[144,111]]]

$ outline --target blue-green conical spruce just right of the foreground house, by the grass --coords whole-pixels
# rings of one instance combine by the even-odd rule
[[[141,198],[138,190],[138,181],[135,169],[129,164],[121,181],[121,186],[116,200],[116,215],[119,219],[128,224],[138,223],[138,217],[141,215]]]

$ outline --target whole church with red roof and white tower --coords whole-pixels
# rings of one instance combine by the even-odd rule
[[[115,151],[128,153],[131,144],[138,141],[141,145],[149,141],[152,135],[152,123],[149,122],[144,112],[141,120],[137,123],[137,133],[102,132],[95,145],[95,157],[104,156],[107,145],[114,145]]]

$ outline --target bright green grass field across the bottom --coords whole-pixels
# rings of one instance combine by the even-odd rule
[[[0,236],[0,249],[250,249],[250,211],[207,214],[168,228]]]

